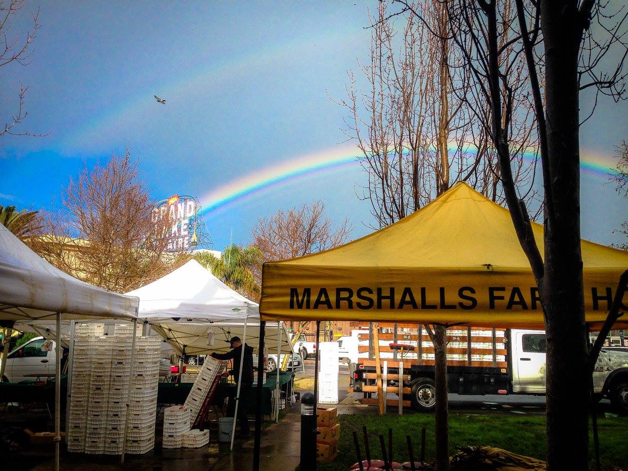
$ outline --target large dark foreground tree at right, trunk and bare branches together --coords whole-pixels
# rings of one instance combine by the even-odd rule
[[[411,4],[396,1],[404,12],[422,18]],[[548,469],[585,470],[587,403],[599,350],[587,352],[584,317],[579,95],[595,87],[598,94],[625,98],[628,13],[625,6],[609,11],[609,2],[595,0],[514,0],[514,11],[505,8],[502,0],[445,0],[443,4],[450,21],[447,37],[465,57],[470,93],[485,103],[475,109],[477,119],[489,130],[497,151],[505,200],[541,295],[548,345]],[[604,72],[605,58],[612,50],[619,51],[619,62]],[[515,85],[516,70],[509,66],[509,58],[517,57],[524,58],[527,69],[521,89]],[[511,163],[512,117],[515,97],[521,93],[528,95],[536,118],[544,189],[544,257],[534,241],[524,192]],[[585,113],[583,120],[592,112]],[[625,279],[622,283],[625,286]],[[617,311],[615,302],[611,311]]]

